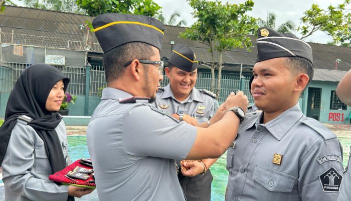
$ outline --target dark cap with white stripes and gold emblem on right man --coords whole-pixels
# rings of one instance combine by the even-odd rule
[[[278,57],[302,57],[313,63],[312,48],[293,34],[261,27],[257,30],[257,62]]]

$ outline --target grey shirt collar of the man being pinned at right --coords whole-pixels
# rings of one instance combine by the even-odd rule
[[[296,124],[296,122],[303,116],[300,105],[297,103],[292,108],[286,110],[275,119],[269,121],[266,124],[260,124],[263,118],[264,112],[256,119],[256,121],[250,122],[247,129],[252,128],[255,125],[258,127],[266,128],[277,140],[281,140],[284,135]],[[282,126],[284,125],[284,126]]]

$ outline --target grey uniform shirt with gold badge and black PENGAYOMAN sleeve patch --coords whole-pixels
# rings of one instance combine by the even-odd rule
[[[226,200],[336,200],[343,167],[335,134],[299,104],[267,124],[262,117],[247,114],[228,148]]]

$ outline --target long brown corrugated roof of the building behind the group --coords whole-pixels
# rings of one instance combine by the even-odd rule
[[[94,18],[84,15],[46,11],[24,7],[7,6],[5,14],[0,18],[0,28],[2,32],[11,33],[12,30],[16,34],[29,34],[33,36],[47,36],[65,38],[72,41],[85,42],[86,30],[80,29],[79,25],[85,24],[87,20],[92,21]],[[199,41],[192,41],[179,37],[179,33],[184,32],[184,27],[165,26],[164,38],[162,41],[161,57],[169,57],[171,52],[170,41],[175,44],[183,43],[197,54],[197,59],[203,62],[211,62],[211,53],[208,45]],[[253,66],[256,61],[256,40],[252,36],[251,52],[245,48],[237,48],[233,51],[223,53],[223,63],[226,65],[238,66],[241,63],[246,66]],[[95,34],[89,33],[89,43],[93,43],[93,50],[101,51],[97,47],[98,43]],[[313,51],[313,64],[317,69],[333,70],[335,68],[335,60],[340,59],[337,63],[336,74],[341,71],[348,71],[351,68],[351,48],[338,47],[332,45],[324,45],[317,43],[309,43]],[[174,45],[173,45],[174,48]],[[218,61],[219,53],[214,53],[215,59]],[[332,81],[333,78],[329,74],[316,73],[316,79]],[[330,75],[328,77],[328,75]],[[336,78],[335,78],[336,79]]]

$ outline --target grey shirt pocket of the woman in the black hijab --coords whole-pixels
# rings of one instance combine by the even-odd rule
[[[51,174],[50,163],[45,146],[35,147],[35,171],[39,174]]]

